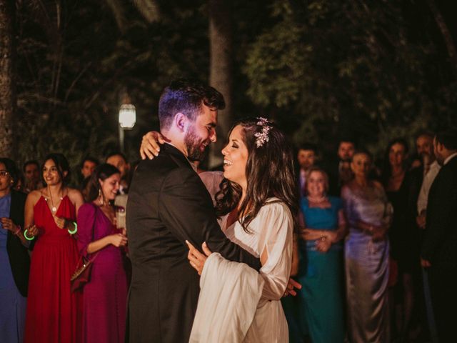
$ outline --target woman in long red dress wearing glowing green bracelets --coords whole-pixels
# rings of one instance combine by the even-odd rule
[[[81,193],[66,187],[69,163],[62,154],[49,154],[43,166],[46,187],[26,200],[26,238],[33,239],[29,298],[24,342],[76,343],[81,340],[81,293],[70,290],[78,263],[76,214]]]

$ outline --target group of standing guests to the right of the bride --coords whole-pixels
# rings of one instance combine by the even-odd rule
[[[291,342],[453,342],[457,308],[457,134],[404,139],[383,165],[340,141],[338,162],[298,149],[301,220],[283,299]],[[316,166],[319,164],[320,166]]]

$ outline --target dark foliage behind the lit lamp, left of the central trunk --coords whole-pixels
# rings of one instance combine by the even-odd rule
[[[176,77],[206,80],[201,70],[209,57],[207,19],[200,6],[179,4],[179,11],[176,1],[162,1],[161,20],[151,21],[134,6],[142,2],[151,3],[123,1],[116,13],[111,8],[116,1],[64,1],[60,8],[18,3],[21,161],[62,151],[77,166],[86,154],[103,160],[119,150],[118,110],[125,91],[137,113],[135,128],[125,132],[126,152],[134,161],[141,136],[158,129],[164,86]]]

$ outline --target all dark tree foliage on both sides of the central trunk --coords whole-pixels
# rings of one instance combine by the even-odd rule
[[[137,159],[141,136],[158,129],[164,86],[209,80],[206,1],[145,2],[152,14],[133,1],[17,1],[19,159],[62,151],[76,164],[118,149],[125,92],[137,109],[126,151]],[[274,119],[324,155],[338,136],[378,154],[394,136],[457,125],[457,28],[444,1],[229,3],[233,119]]]

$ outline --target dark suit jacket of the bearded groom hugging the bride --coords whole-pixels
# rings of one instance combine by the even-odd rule
[[[126,342],[189,342],[200,278],[187,259],[186,239],[261,267],[226,238],[203,182],[174,146],[164,144],[158,157],[141,161],[126,213],[132,262]]]

